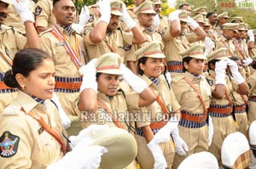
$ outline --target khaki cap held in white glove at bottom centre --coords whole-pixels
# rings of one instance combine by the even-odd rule
[[[102,155],[99,168],[125,168],[131,164],[137,155],[136,140],[124,129],[110,127],[96,132],[91,138],[94,140],[92,144],[108,149],[108,152]]]

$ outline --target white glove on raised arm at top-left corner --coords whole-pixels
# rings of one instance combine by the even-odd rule
[[[20,15],[22,23],[26,21],[35,22],[34,14],[29,10],[30,0],[20,0],[19,3],[16,0],[12,0],[12,2],[14,3],[17,14]]]

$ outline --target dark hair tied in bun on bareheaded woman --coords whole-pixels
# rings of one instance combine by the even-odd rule
[[[25,48],[15,54],[12,69],[6,71],[3,82],[12,88],[20,88],[15,76],[20,73],[23,76],[29,76],[32,70],[37,69],[44,59],[49,59],[49,54],[38,48]]]

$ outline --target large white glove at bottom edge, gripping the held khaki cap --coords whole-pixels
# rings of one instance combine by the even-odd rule
[[[102,155],[107,152],[108,149],[99,145],[87,146],[85,138],[60,161],[49,165],[46,169],[97,169],[101,164]]]

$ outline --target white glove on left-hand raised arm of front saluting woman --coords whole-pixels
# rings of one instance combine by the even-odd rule
[[[80,92],[85,88],[91,88],[97,93],[98,83],[96,82],[96,58],[90,60],[87,65],[84,65],[81,69],[83,71],[83,82],[80,87]]]

